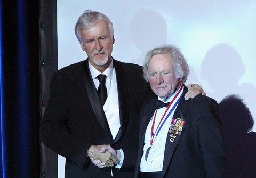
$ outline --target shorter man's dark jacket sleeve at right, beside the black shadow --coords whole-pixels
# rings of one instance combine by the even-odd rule
[[[199,144],[204,160],[206,177],[226,177],[226,145],[221,130],[218,103],[204,104],[205,115],[198,123]]]

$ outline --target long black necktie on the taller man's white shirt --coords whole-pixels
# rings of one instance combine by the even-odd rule
[[[105,101],[107,100],[107,97],[108,97],[107,88],[106,88],[106,85],[105,85],[107,76],[103,75],[103,74],[100,74],[100,75],[97,76],[97,78],[100,82],[97,93],[99,95],[101,105],[104,106],[104,103],[105,103]]]

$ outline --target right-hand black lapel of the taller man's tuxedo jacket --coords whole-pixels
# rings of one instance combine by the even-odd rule
[[[126,85],[126,77],[123,67],[120,62],[113,59],[114,68],[116,71],[116,81],[118,90],[118,102],[119,102],[119,116],[120,116],[120,128],[115,137],[114,143],[120,139],[123,135],[129,120],[129,98]]]

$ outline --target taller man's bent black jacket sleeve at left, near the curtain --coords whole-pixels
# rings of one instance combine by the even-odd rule
[[[91,143],[79,139],[69,131],[69,103],[64,83],[58,73],[53,75],[49,104],[41,121],[42,140],[47,147],[83,168]]]

